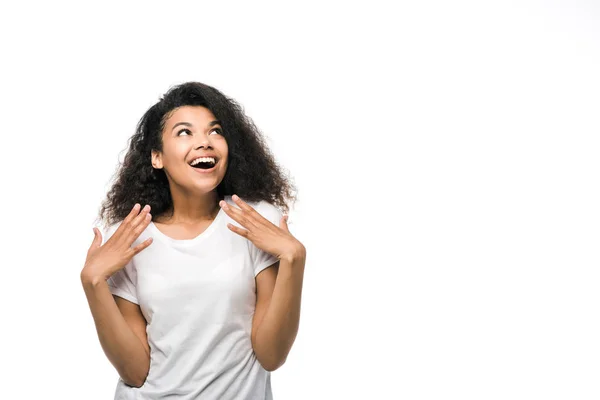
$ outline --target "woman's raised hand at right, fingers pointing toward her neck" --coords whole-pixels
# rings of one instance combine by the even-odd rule
[[[287,215],[281,218],[279,227],[277,227],[235,194],[231,198],[239,208],[232,207],[225,200],[221,200],[219,206],[227,215],[246,229],[227,224],[230,230],[247,238],[256,247],[276,256],[280,260],[282,258],[294,259],[304,256],[306,252],[304,245],[292,236],[288,229]]]

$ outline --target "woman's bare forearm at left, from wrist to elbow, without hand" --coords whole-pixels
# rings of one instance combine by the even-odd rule
[[[133,333],[102,278],[81,276],[96,332],[107,358],[130,386],[141,386],[150,368],[150,355]]]

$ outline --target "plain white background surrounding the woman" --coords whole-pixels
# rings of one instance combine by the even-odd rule
[[[598,3],[214,3],[1,6],[0,397],[112,398],[79,273],[135,124],[197,80],[299,189],[276,400],[598,399]]]

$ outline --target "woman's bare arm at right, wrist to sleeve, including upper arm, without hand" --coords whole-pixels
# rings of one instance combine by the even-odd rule
[[[285,363],[298,333],[305,259],[306,250],[301,247],[256,276],[252,347],[268,371]]]

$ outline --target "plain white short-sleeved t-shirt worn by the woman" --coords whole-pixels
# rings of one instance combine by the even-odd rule
[[[238,207],[231,196],[225,201]],[[279,226],[278,208],[247,203]],[[272,400],[271,373],[257,360],[250,333],[255,276],[277,258],[228,222],[243,228],[219,209],[190,240],[172,239],[151,222],[132,247],[148,237],[152,244],[107,280],[112,294],[139,304],[150,345],[146,381],[136,388],[119,378],[115,400]],[[120,224],[106,230],[103,243]]]

